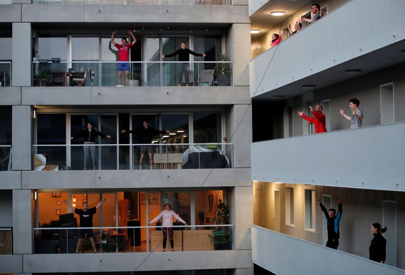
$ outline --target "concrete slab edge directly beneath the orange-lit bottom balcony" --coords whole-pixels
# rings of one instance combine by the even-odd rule
[[[37,254],[24,255],[23,267],[24,272],[27,273],[251,268],[252,252],[251,250],[224,250]]]

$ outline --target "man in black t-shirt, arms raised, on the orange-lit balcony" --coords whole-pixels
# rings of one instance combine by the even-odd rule
[[[63,202],[66,203],[67,206],[69,206],[71,209],[73,209],[74,213],[79,215],[80,227],[92,227],[93,226],[93,215],[96,214],[97,208],[99,208],[101,206],[101,204],[103,202],[105,202],[105,200],[106,199],[102,200],[99,204],[97,204],[93,208],[89,208],[89,205],[87,204],[87,202],[85,202],[85,203],[83,203],[83,209],[73,207],[71,204],[68,203],[67,200],[64,200]],[[80,233],[80,236],[79,236],[79,241],[77,242],[77,246],[76,246],[76,253],[78,253],[79,248],[82,247],[82,243],[83,243],[84,239],[86,238],[86,235],[92,244],[94,253],[97,253],[96,244],[94,242],[93,230],[91,230],[90,228],[80,229],[79,233]]]

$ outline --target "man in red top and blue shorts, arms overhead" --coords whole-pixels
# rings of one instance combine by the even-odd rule
[[[131,35],[132,42],[128,43],[127,38],[123,37],[121,39],[122,44],[117,44],[114,41],[114,34],[117,33],[117,30],[114,30],[111,34],[111,43],[118,49],[118,61],[126,61],[126,62],[118,62],[117,70],[118,70],[118,85],[121,85],[123,82],[122,76],[123,71],[125,71],[125,85],[128,86],[129,83],[129,76],[130,76],[130,48],[135,44],[136,38],[131,30],[128,30],[127,33]]]

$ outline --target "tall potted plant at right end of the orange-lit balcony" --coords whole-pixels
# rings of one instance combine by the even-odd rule
[[[215,216],[211,218],[211,224],[229,224],[229,207],[219,200]],[[210,235],[215,250],[229,250],[232,246],[232,232],[229,226],[216,226]]]

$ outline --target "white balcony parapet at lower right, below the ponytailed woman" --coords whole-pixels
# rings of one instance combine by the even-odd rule
[[[252,225],[253,263],[285,274],[384,274],[405,270]]]

